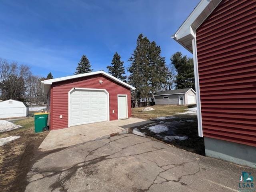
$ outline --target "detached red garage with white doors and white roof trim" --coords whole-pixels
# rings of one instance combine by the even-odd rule
[[[104,72],[42,81],[50,112],[50,129],[131,117],[129,84]]]

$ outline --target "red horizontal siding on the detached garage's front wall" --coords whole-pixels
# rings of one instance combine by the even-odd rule
[[[103,83],[100,84],[99,80]],[[50,101],[50,129],[60,129],[68,127],[68,92],[72,88],[95,88],[106,89],[109,93],[109,111],[110,120],[118,119],[118,106],[117,95],[127,94],[128,100],[128,117],[131,117],[131,91],[126,86],[119,84],[118,82],[111,80],[110,78],[98,74],[94,76],[87,76],[82,78],[76,78],[72,80],[66,80],[62,82],[55,82],[51,87],[51,101]],[[112,113],[112,111],[115,111]],[[63,118],[60,119],[59,116]]]

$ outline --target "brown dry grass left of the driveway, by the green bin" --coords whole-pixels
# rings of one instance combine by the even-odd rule
[[[4,132],[0,138],[19,135],[20,138],[0,147],[0,191],[23,192],[26,175],[32,166],[34,153],[48,132],[34,133],[34,118],[15,122],[22,128]]]

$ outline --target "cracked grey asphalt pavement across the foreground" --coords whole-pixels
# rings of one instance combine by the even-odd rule
[[[256,175],[251,168],[122,134],[38,155],[26,192],[238,191],[243,171]]]

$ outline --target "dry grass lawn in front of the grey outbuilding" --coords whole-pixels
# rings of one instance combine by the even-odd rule
[[[183,105],[154,105],[154,111],[142,111],[146,107],[132,108],[132,117],[140,119],[153,119],[157,117],[172,116],[184,112],[188,107]]]

